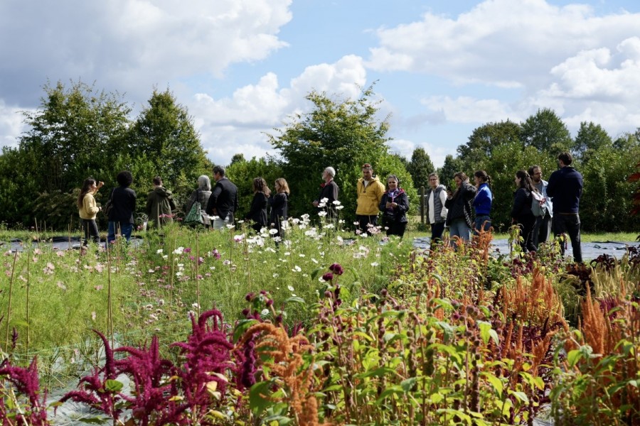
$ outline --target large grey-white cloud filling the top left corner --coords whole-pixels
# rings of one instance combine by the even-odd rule
[[[291,2],[4,0],[0,39],[12,41],[0,44],[0,62],[11,67],[0,68],[0,93],[17,97],[22,84],[82,77],[146,96],[154,84],[220,77],[230,64],[287,45],[277,35],[292,18]]]

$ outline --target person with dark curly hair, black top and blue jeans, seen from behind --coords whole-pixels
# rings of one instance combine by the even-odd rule
[[[116,180],[119,187],[111,192],[113,207],[109,212],[109,226],[107,229],[107,244],[115,241],[116,232],[122,234],[127,242],[131,241],[136,211],[136,192],[130,188],[133,176],[128,170],[118,173]]]

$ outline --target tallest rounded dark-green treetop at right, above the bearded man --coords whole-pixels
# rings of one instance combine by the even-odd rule
[[[553,109],[538,109],[521,124],[521,138],[526,146],[558,155],[573,145],[567,126]]]

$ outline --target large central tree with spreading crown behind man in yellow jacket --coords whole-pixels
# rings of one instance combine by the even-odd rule
[[[284,159],[284,178],[290,184],[292,215],[315,213],[311,202],[318,196],[321,173],[336,169],[339,199],[345,206],[341,215],[353,219],[356,212],[356,182],[363,163],[371,163],[374,173],[383,176],[392,170],[378,165],[387,161],[388,121],[378,121],[378,104],[371,100],[373,87],[358,99],[332,99],[326,93],[311,92],[306,99],[314,104],[306,114],[291,117],[283,129],[269,135],[270,142]],[[398,161],[398,167],[404,166]],[[393,170],[393,173],[399,173]],[[405,180],[405,187],[409,180]]]

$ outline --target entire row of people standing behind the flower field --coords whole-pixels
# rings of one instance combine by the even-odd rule
[[[580,195],[582,195],[582,175],[572,168],[570,153],[558,155],[559,170],[551,174],[549,181],[542,179],[542,168],[532,165],[528,170],[518,170],[514,182],[511,223],[521,229],[521,247],[523,251],[537,251],[538,245],[550,238],[553,226],[555,236],[568,234],[571,240],[575,261],[582,262],[580,249]],[[327,167],[322,172],[319,197],[312,202],[320,209],[321,215],[328,219],[336,217],[338,208],[338,185],[334,178],[336,170]],[[206,175],[198,178],[198,188],[193,191],[186,203],[186,212],[198,207],[199,223],[213,229],[221,229],[235,222],[234,214],[238,210],[238,187],[225,176],[225,168],[216,165],[213,168],[215,185],[211,186]],[[122,171],[117,175],[119,187],[110,195],[107,212],[109,227],[107,241],[113,241],[116,233],[122,234],[129,241],[134,224],[136,193],[129,188],[133,182],[132,174]],[[491,177],[484,170],[474,173],[474,184],[464,172],[454,175],[456,188],[441,185],[437,173],[429,175],[430,190],[427,192],[426,212],[432,229],[432,247],[442,241],[444,227],[449,226],[452,244],[458,237],[469,241],[471,233],[487,231],[491,228]],[[167,190],[162,179],[153,179],[154,190],[149,192],[146,201],[146,214],[149,221],[157,228],[173,221],[172,212],[176,209],[171,191]],[[82,185],[78,197],[78,209],[85,231],[85,244],[91,239],[100,241],[95,218],[100,208],[97,207],[94,195],[104,182],[87,178]],[[400,188],[400,180],[396,175],[389,175],[386,185],[374,175],[373,167],[366,163],[362,166],[362,178],[356,185],[356,233],[374,234],[380,227],[386,234],[398,235],[402,238],[407,227],[407,211],[409,198],[405,190]],[[253,180],[253,198],[247,213],[247,221],[252,223],[255,231],[271,227],[274,236],[282,236],[282,224],[287,220],[289,185],[284,178],[274,182],[272,192],[263,178]],[[196,206],[196,203],[198,204]],[[537,204],[536,204],[537,203]],[[539,204],[539,205],[538,205]],[[267,214],[267,208],[270,214]],[[194,212],[198,211],[194,209]],[[378,226],[378,217],[382,217],[382,226]],[[196,213],[197,214],[197,213]],[[555,218],[554,218],[555,215]],[[564,253],[564,244],[561,244]]]

